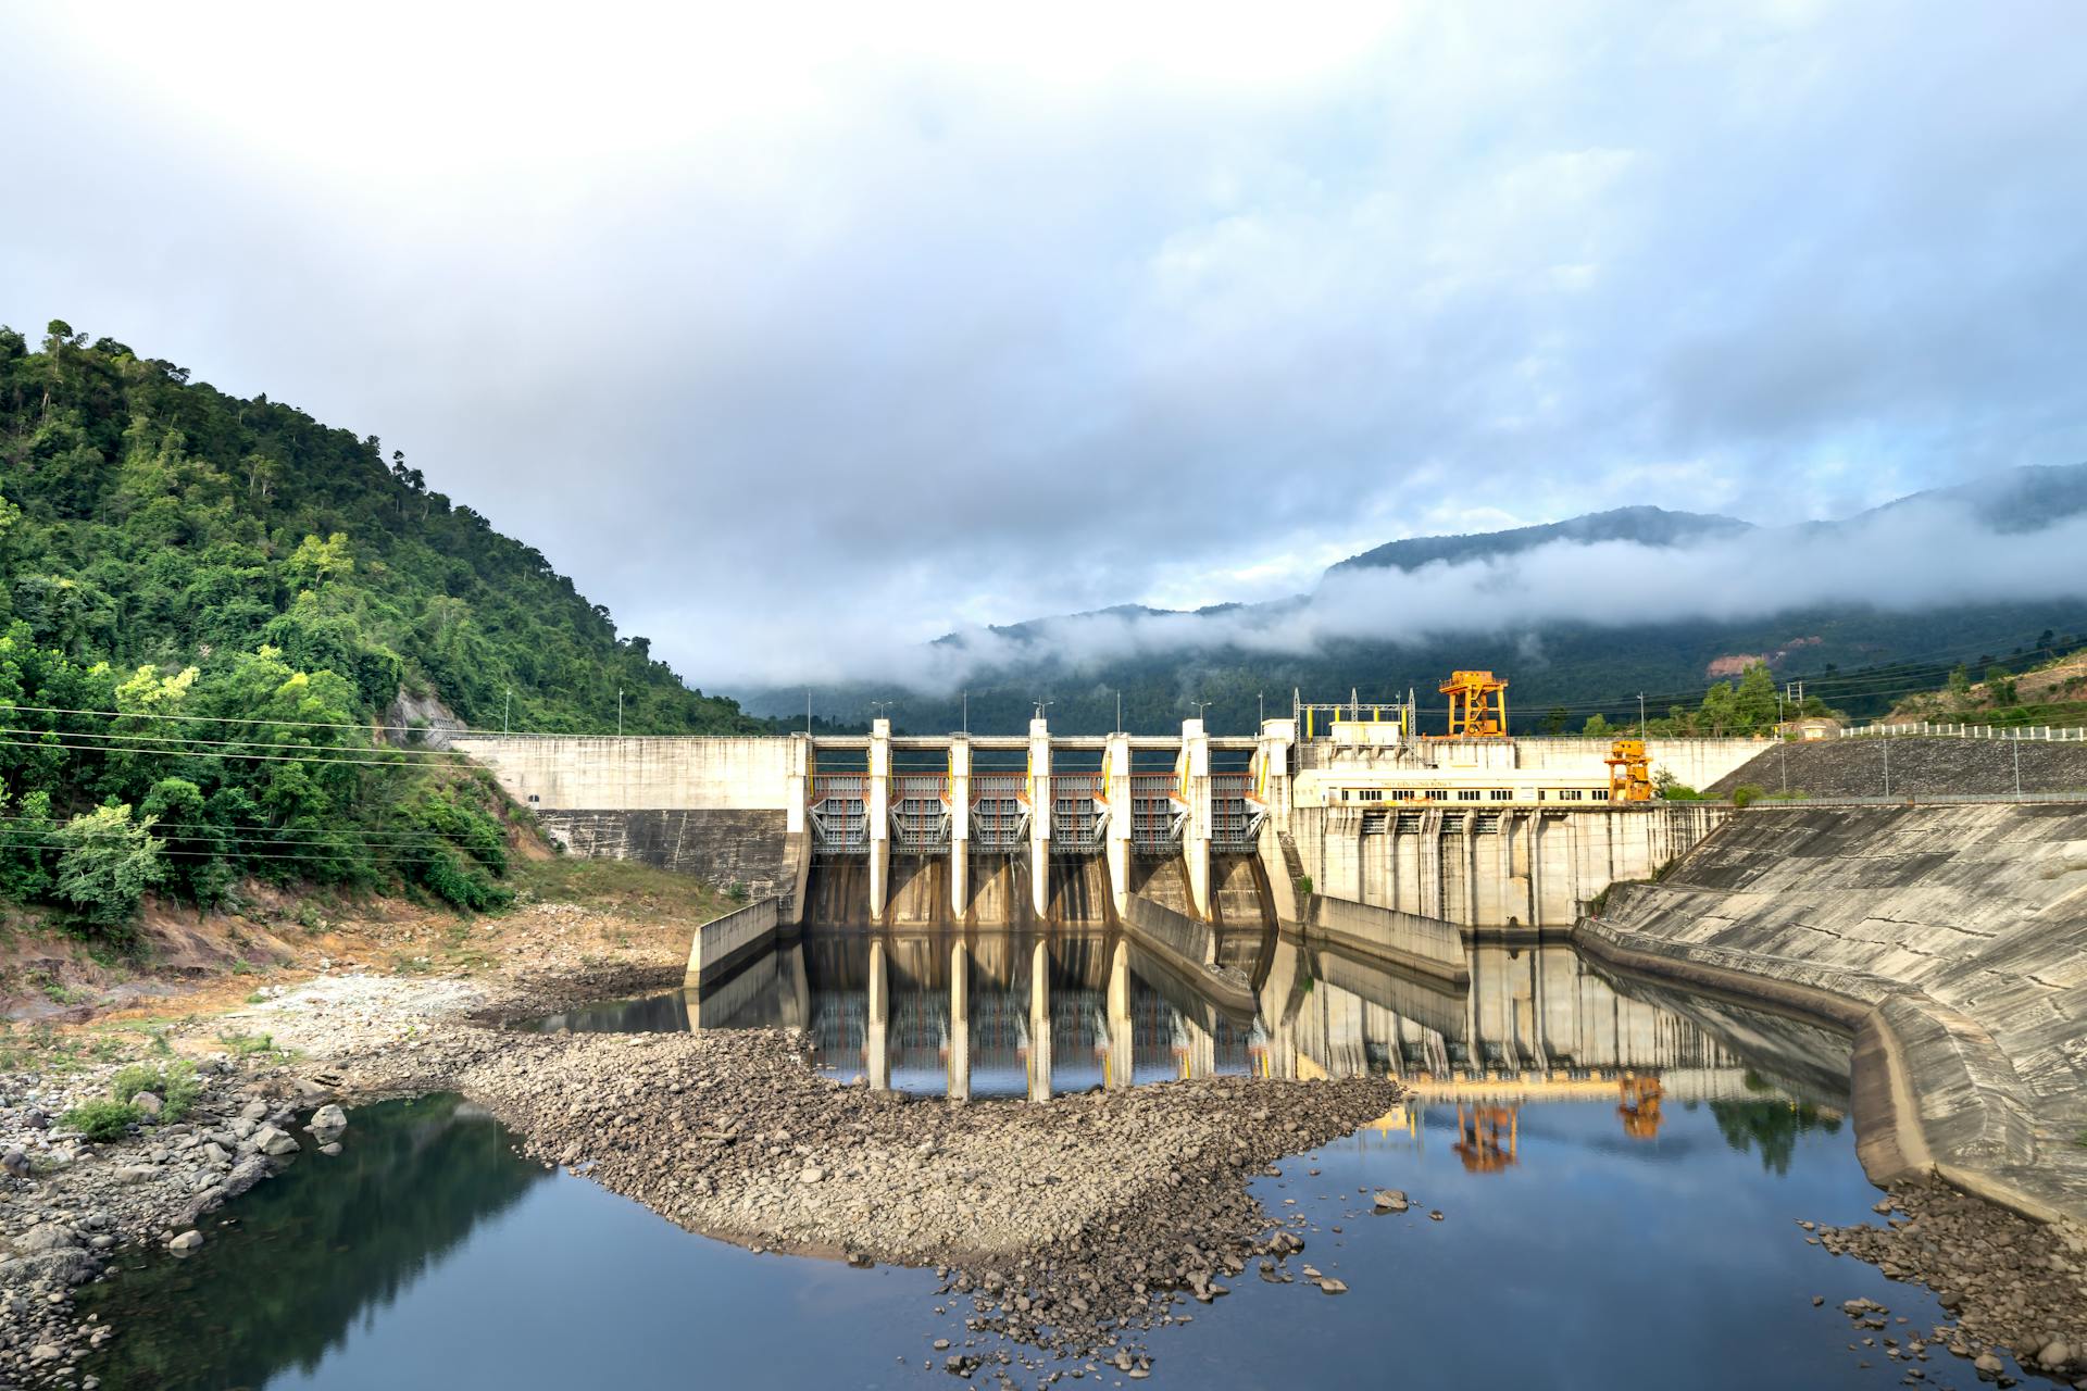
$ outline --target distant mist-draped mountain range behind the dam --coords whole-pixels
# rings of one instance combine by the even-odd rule
[[[1793,498],[1793,511],[1799,501]],[[1402,697],[1453,667],[1511,678],[1515,724],[1555,707],[1659,713],[1695,703],[1747,657],[1778,678],[1908,661],[1972,661],[2087,630],[2087,465],[2026,467],[1845,517],[1753,526],[1624,507],[1546,526],[1394,540],[1332,565],[1309,594],[1196,611],[1121,605],[954,632],[889,669],[812,690],[822,717],[889,713],[910,730],[1012,730],[1037,703],[1069,732],[1217,730],[1267,703]],[[1837,705],[1895,692],[1843,676]],[[1872,686],[1876,686],[1872,690]],[[968,699],[966,699],[968,692]],[[803,688],[743,692],[789,715]],[[1553,715],[1557,722],[1557,715]]]

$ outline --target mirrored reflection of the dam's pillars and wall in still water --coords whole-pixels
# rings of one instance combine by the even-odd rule
[[[1830,1041],[1617,989],[1563,943],[1469,941],[1465,957],[1469,986],[1450,986],[1267,930],[1200,978],[1117,930],[808,930],[701,993],[547,1026],[799,1028],[831,1076],[952,1097],[1394,1074],[1421,1101],[1613,1097],[1636,1114],[1651,1080],[1657,1118],[1659,1099],[1757,1097],[1768,1072],[1841,1105]]]

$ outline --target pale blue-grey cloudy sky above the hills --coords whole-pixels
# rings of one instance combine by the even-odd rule
[[[382,436],[712,688],[2087,459],[2079,4],[1012,13],[13,6],[0,321]]]

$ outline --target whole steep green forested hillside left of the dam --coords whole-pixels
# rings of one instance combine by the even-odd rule
[[[378,736],[762,728],[376,436],[109,338],[0,330],[0,897],[121,930],[246,876],[501,899],[484,778]]]

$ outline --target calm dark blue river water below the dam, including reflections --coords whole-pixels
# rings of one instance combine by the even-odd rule
[[[730,997],[614,1001],[543,1026],[793,1022],[818,1066],[854,1076],[872,1066],[854,936],[793,943]],[[891,1080],[941,1091],[968,1051],[975,1097],[1021,1095],[1037,957],[1023,941],[968,947],[885,943]],[[1284,951],[1288,976],[1271,972]],[[1125,1080],[1127,1053],[1135,1082],[1373,1068],[1419,1095],[1254,1180],[1271,1212],[1317,1226],[1306,1260],[1350,1293],[1233,1280],[1148,1337],[1154,1383],[1897,1387],[1905,1364],[1860,1339],[1851,1351],[1837,1305],[1891,1305],[1912,1320],[1893,1337],[1943,1320],[1924,1291],[1795,1226],[1874,1220],[1841,1114],[1843,1041],[1609,980],[1557,945],[1476,945],[1467,993],[1296,943],[1246,955],[1258,1011],[1223,1018],[1192,980],[1133,972],[1114,982],[1125,1036],[1112,945],[1052,951],[1054,1087]],[[968,1049],[952,1049],[952,1018]],[[225,1207],[200,1258],[134,1253],[90,1291],[119,1337],[86,1370],[106,1387],[954,1385],[929,1345],[962,1347],[968,1305],[937,1301],[933,1272],[753,1255],[513,1145],[457,1097],[357,1109],[340,1157],[301,1157]],[[1371,1216],[1361,1191],[1377,1187],[1444,1220]],[[1937,1356],[1926,1381],[1972,1376]]]

